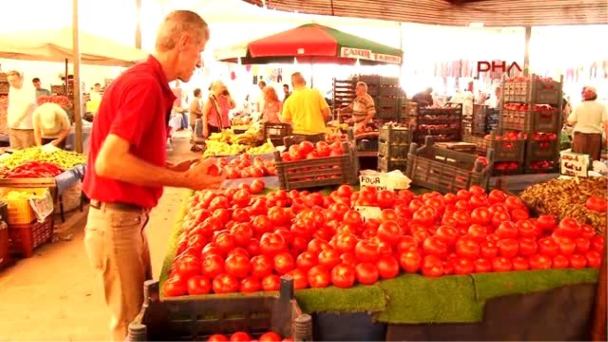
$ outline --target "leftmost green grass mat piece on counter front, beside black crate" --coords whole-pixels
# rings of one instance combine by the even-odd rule
[[[311,312],[381,312],[387,307],[387,298],[375,285],[357,285],[352,288],[306,288],[295,291],[302,310]]]

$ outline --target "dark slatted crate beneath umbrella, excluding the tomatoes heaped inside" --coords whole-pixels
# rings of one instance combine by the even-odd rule
[[[356,147],[342,143],[344,155],[284,162],[275,151],[278,181],[281,189],[305,189],[311,187],[354,184],[359,174]]]

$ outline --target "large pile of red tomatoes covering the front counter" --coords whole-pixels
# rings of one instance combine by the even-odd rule
[[[381,214],[364,219],[357,206]],[[329,196],[283,190],[198,192],[187,203],[166,296],[374,284],[399,273],[439,277],[599,267],[603,237],[572,218],[531,218],[517,197],[474,186],[415,195],[340,186]]]

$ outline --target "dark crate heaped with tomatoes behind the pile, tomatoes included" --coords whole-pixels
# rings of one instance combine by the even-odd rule
[[[274,152],[281,189],[292,190],[354,184],[359,173],[356,147],[351,142],[308,141]]]

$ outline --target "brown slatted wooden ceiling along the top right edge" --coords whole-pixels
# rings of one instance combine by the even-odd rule
[[[268,9],[407,23],[468,26],[608,24],[605,0],[243,0]],[[474,42],[472,42],[474,43]]]

